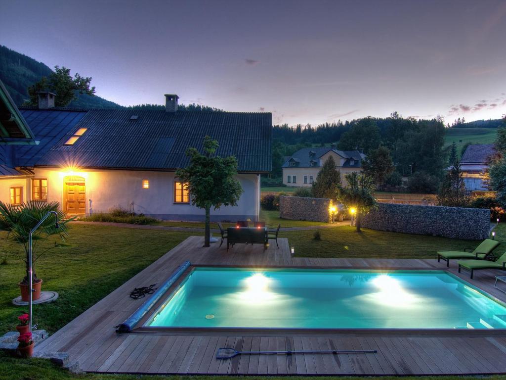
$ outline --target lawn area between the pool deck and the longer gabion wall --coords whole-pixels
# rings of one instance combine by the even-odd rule
[[[496,238],[506,249],[506,224],[499,224]],[[436,258],[438,250],[460,250],[476,247],[479,242],[458,240],[426,235],[399,234],[394,232],[362,229],[357,233],[349,225],[318,230],[321,240],[314,240],[315,231],[283,232],[281,237],[288,238],[295,255],[299,257],[364,257],[364,258]],[[502,248],[504,247],[504,248]]]

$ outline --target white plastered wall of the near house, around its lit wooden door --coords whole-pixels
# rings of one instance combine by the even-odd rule
[[[191,204],[174,202],[174,172],[135,170],[81,170],[65,172],[59,169],[35,168],[33,178],[48,179],[48,201],[63,203],[64,180],[67,176],[80,176],[86,183],[86,214],[107,212],[111,207],[120,206],[134,209],[159,219],[203,220],[204,210]],[[143,180],[149,180],[149,188],[143,188]],[[260,175],[239,174],[243,188],[237,206],[211,210],[214,221],[236,221],[243,218],[256,220],[260,213]],[[0,200],[10,202],[10,186],[23,183],[26,197],[30,200],[31,179],[0,179],[2,194]],[[5,191],[4,191],[5,189]],[[5,194],[4,194],[5,193]]]

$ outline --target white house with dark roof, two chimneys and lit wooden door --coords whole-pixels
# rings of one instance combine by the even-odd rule
[[[209,135],[218,155],[237,158],[244,190],[237,206],[213,211],[212,220],[258,219],[260,175],[271,170],[271,113],[178,111],[177,95],[165,95],[164,110],[58,108],[57,95],[38,96],[38,107],[20,107],[38,145],[6,146],[1,201],[57,201],[71,215],[120,206],[203,220],[175,171],[189,164],[186,148],[201,149]]]

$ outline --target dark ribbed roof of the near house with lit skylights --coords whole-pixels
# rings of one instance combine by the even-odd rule
[[[63,145],[78,128],[87,131],[74,145]],[[88,111],[36,164],[175,170],[188,165],[187,147],[202,149],[205,135],[218,140],[219,156],[237,158],[239,171],[271,170],[271,113],[132,109]]]

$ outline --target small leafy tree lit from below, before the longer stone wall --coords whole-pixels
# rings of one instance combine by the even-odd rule
[[[336,191],[336,199],[345,205],[348,210],[352,208],[356,212],[357,232],[360,232],[361,218],[377,206],[374,198],[374,179],[364,173],[351,172],[345,175],[348,182],[346,186],[339,185]]]

